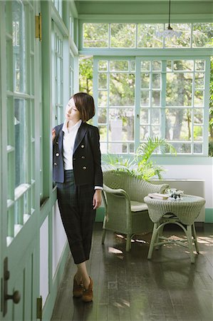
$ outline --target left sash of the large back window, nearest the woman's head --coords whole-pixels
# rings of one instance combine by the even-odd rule
[[[98,126],[103,153],[133,153],[135,61],[98,61]]]

